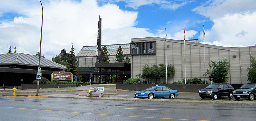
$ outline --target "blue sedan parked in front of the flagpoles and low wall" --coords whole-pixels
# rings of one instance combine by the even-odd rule
[[[148,99],[152,99],[154,97],[169,97],[173,99],[175,96],[179,96],[178,90],[172,90],[169,87],[165,86],[153,86],[149,87],[146,90],[136,92],[134,94],[136,98],[138,97],[148,97]]]

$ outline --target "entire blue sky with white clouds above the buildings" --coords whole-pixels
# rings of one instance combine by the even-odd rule
[[[41,54],[46,59],[97,45],[99,15],[102,45],[131,38],[198,39],[201,43],[242,47],[256,43],[255,0],[41,0]],[[39,0],[0,0],[0,53],[39,52],[42,7]],[[203,25],[205,38],[203,36]],[[203,39],[204,38],[204,39]],[[204,42],[203,42],[204,40]]]

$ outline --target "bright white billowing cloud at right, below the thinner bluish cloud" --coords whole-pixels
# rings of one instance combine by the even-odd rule
[[[256,43],[255,21],[256,11],[213,19],[214,25],[205,32],[205,40],[208,42],[217,40],[223,44],[254,45]]]

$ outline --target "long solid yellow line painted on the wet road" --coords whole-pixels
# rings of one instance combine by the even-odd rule
[[[26,108],[15,108],[15,107],[5,107],[5,108],[26,109]],[[40,110],[40,109],[26,109],[26,110]],[[53,111],[53,112],[65,112],[65,113],[80,113],[80,114],[94,114],[94,115],[120,116],[120,117],[140,117],[140,116],[123,116],[123,115],[111,115],[111,114],[69,112],[69,111],[58,111],[58,110],[41,110],[41,111]],[[193,120],[193,119],[177,119],[177,118],[161,118],[161,117],[142,117],[142,118],[172,119],[172,120],[189,120],[189,121],[211,121],[211,120]]]

